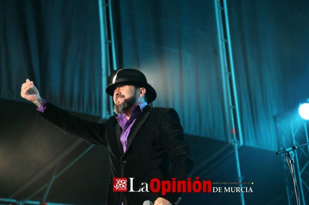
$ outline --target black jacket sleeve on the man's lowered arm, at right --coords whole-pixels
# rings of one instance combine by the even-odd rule
[[[159,127],[159,136],[171,163],[171,178],[187,180],[193,171],[193,159],[190,148],[184,137],[184,130],[180,124],[177,112],[168,108],[164,111]],[[173,205],[180,204],[183,193],[166,193],[162,198]],[[178,202],[178,203],[177,203]]]

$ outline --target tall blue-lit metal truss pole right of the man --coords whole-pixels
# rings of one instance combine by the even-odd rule
[[[226,0],[214,0],[217,30],[218,49],[222,71],[222,87],[224,89],[224,104],[226,113],[230,116],[226,118],[226,125],[231,130],[230,143],[234,146],[235,163],[237,167],[237,178],[242,182],[243,177],[240,172],[238,148],[243,145],[241,122],[239,117],[238,97],[236,91],[236,80],[234,72],[234,62],[232,54],[231,34],[229,27],[228,10]],[[239,184],[242,187],[242,184]],[[240,203],[245,204],[243,192],[240,192]]]

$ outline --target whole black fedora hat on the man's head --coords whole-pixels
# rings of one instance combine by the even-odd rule
[[[106,87],[106,93],[113,96],[116,86],[122,83],[144,87],[147,103],[154,101],[157,97],[155,89],[147,83],[146,76],[141,71],[132,68],[118,70],[115,81]]]

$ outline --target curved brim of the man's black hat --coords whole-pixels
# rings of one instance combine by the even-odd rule
[[[114,90],[116,86],[118,86],[119,84],[128,84],[128,85],[144,87],[146,89],[147,103],[153,102],[155,98],[157,98],[157,93],[155,89],[148,83],[141,81],[128,81],[125,79],[124,80],[119,79],[117,80],[117,82],[108,85],[105,89],[106,93],[109,94],[110,96],[113,96]]]

